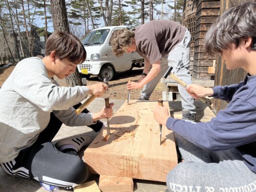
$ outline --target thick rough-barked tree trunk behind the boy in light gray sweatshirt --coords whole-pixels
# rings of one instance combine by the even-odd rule
[[[54,31],[63,31],[69,33],[68,17],[65,0],[50,0],[51,14]],[[75,72],[65,78],[69,86],[83,85],[81,76],[76,68]]]

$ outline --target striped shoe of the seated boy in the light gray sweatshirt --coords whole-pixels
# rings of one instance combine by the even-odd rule
[[[73,145],[75,146],[75,148],[77,148],[77,152],[78,152],[83,146],[88,146],[91,142],[92,142],[91,136],[81,135],[79,137],[62,139],[61,141],[58,141],[55,144],[55,146],[59,149],[63,145]]]

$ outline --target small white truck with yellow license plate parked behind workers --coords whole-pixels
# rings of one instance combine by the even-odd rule
[[[86,60],[77,66],[82,77],[88,79],[93,74],[98,75],[100,81],[104,78],[111,81],[116,72],[144,66],[144,59],[137,52],[124,53],[122,57],[116,57],[111,52],[110,36],[122,28],[125,26],[101,27],[90,31],[85,37],[82,43],[87,53]]]

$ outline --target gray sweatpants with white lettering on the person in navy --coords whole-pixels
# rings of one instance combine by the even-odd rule
[[[256,174],[235,149],[209,152],[175,138],[184,162],[167,176],[170,192],[256,192]]]

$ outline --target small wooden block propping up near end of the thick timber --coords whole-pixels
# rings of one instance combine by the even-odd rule
[[[99,176],[99,189],[102,192],[133,192],[134,182],[132,178]]]

